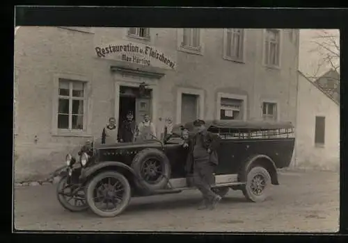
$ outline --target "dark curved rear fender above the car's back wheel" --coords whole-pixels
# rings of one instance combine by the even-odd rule
[[[239,181],[246,181],[246,174],[248,173],[248,171],[251,169],[251,166],[253,165],[253,163],[257,160],[267,160],[267,171],[269,171],[269,174],[271,176],[271,182],[273,185],[279,185],[278,182],[278,174],[277,174],[277,169],[276,169],[276,164],[274,163],[274,161],[269,158],[269,156],[265,156],[264,154],[258,154],[258,155],[254,155],[254,156],[250,156],[246,162],[243,163],[241,169],[239,170],[238,173],[238,179]]]

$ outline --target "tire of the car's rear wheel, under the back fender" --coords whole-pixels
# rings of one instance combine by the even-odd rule
[[[260,185],[263,185],[260,187],[255,188],[255,185],[253,185],[254,180],[261,180]],[[255,181],[255,183],[258,183]],[[267,196],[269,196],[269,187],[271,185],[271,176],[269,175],[269,172],[267,169],[264,169],[264,167],[253,167],[246,176],[246,185],[242,188],[242,192],[246,199],[248,201],[253,201],[255,203],[260,203],[267,199]],[[262,189],[263,188],[263,189]],[[261,190],[259,193],[257,193],[257,190]]]

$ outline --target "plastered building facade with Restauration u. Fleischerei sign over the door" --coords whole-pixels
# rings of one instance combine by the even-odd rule
[[[295,124],[298,62],[292,29],[22,27],[15,178],[48,174],[128,110],[150,114],[157,137],[168,117]]]

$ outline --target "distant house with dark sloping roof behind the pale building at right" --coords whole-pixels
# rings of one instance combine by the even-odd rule
[[[324,75],[317,78],[315,83],[324,90],[326,94],[340,102],[340,74],[330,69]]]

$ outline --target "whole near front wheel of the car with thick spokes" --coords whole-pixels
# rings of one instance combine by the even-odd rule
[[[101,217],[115,217],[127,208],[131,187],[125,176],[115,171],[97,174],[86,187],[90,209]]]

